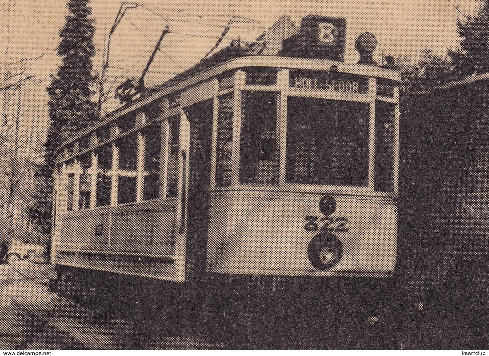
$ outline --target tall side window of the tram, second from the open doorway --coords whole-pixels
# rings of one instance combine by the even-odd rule
[[[161,124],[151,125],[144,131],[146,137],[144,153],[144,199],[159,196],[159,162],[161,150]]]

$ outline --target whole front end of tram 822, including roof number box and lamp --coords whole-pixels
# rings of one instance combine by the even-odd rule
[[[343,62],[343,19],[308,16],[217,96],[205,269],[389,277],[397,261],[399,72]],[[244,60],[242,58],[242,60]]]

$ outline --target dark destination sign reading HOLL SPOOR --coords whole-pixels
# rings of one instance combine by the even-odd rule
[[[290,72],[289,87],[358,94],[368,91],[368,78],[342,74]]]

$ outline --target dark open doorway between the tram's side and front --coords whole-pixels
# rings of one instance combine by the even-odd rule
[[[205,271],[212,149],[212,99],[184,110],[190,123],[187,196],[187,277]],[[190,275],[189,275],[190,273]]]

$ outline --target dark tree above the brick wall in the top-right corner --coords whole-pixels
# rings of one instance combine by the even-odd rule
[[[477,2],[479,6],[474,15],[459,10],[462,15],[457,19],[460,49],[448,49],[458,78],[489,72],[489,0]]]

